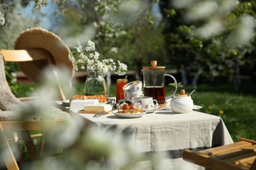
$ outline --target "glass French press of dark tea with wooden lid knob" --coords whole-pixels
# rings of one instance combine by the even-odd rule
[[[165,66],[158,66],[157,61],[151,61],[152,67],[142,67],[144,96],[153,97],[159,104],[165,103],[165,99],[170,99],[177,92],[177,80],[174,76],[165,74]],[[175,82],[174,92],[165,97],[165,76],[173,78]]]

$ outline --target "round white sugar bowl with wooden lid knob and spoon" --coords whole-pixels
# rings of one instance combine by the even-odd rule
[[[193,110],[194,103],[191,96],[185,94],[185,90],[181,90],[181,94],[175,95],[171,99],[171,110],[175,113],[189,113]]]

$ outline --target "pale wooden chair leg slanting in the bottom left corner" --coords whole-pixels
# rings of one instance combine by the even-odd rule
[[[3,131],[3,127],[0,124],[0,141],[1,141],[1,151],[2,158],[5,161],[5,165],[7,169],[20,169],[18,167],[18,163],[16,161],[16,158],[14,157],[14,154],[12,152],[12,148],[8,142],[7,137],[5,136],[5,133]]]

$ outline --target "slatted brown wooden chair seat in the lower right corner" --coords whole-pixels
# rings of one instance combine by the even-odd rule
[[[256,169],[256,141],[240,138],[237,143],[200,151],[184,150],[183,159],[209,169]]]

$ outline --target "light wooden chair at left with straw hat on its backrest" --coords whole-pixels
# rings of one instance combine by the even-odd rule
[[[4,61],[12,62],[39,61],[47,59],[45,58],[45,53],[47,54],[47,51],[43,49],[1,50],[0,58],[3,56]],[[49,61],[49,63],[51,63],[51,61]],[[1,71],[3,71],[3,68]],[[9,88],[8,83],[3,88],[7,87]],[[66,99],[61,86],[58,86],[58,90],[60,92],[60,99]],[[11,93],[11,91],[9,93]],[[10,95],[13,94],[11,93]],[[23,99],[33,99],[33,97],[23,97]],[[58,113],[53,116],[53,120],[49,119],[45,121],[41,120],[41,118],[38,120],[33,120],[33,118],[30,120],[16,120],[16,112],[14,112],[14,110],[1,111],[0,109],[0,114],[2,114],[1,117],[3,116],[3,113],[8,113],[7,115],[9,115],[9,112],[11,116],[7,116],[7,120],[1,119],[0,121],[0,146],[2,148],[2,153],[5,153],[1,158],[5,161],[7,169],[19,169],[19,165],[24,163],[24,158],[20,156],[22,151],[20,149],[20,141],[24,142],[28,153],[30,154],[30,158],[37,159],[41,156],[43,147],[45,146],[44,140],[41,140],[39,149],[37,149],[33,143],[33,137],[41,137],[41,139],[43,139],[42,133],[30,135],[30,131],[47,131],[53,129],[54,126],[62,124],[65,122],[64,120],[70,116],[66,112],[57,110],[56,112]],[[14,120],[12,120],[12,118],[14,118]],[[17,157],[19,158],[18,163],[16,160]]]

